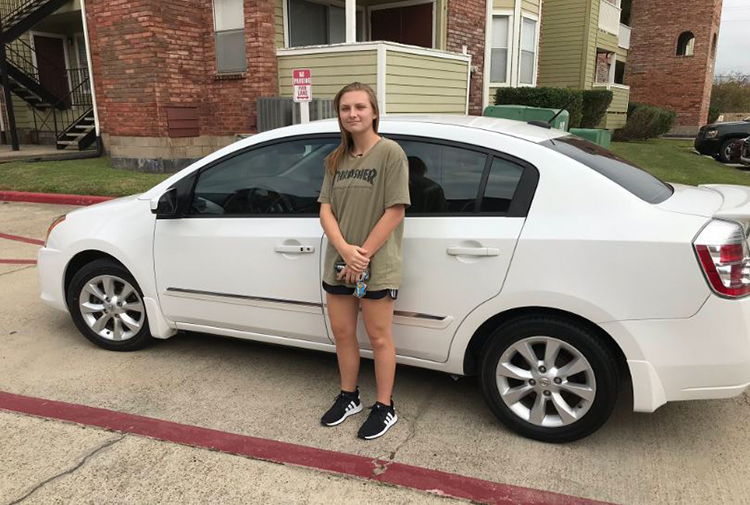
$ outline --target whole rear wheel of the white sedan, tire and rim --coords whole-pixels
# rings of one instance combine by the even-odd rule
[[[587,437],[617,401],[617,362],[588,328],[562,318],[503,325],[485,346],[482,390],[497,418],[542,442]]]

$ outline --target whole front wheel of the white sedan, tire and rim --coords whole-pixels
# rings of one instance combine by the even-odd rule
[[[128,270],[108,259],[81,268],[68,286],[73,322],[94,344],[111,351],[134,351],[149,344],[143,293]]]

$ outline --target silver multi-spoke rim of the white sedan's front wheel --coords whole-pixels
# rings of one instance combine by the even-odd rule
[[[87,282],[78,307],[88,327],[107,340],[133,338],[146,319],[138,291],[114,275],[100,275]]]

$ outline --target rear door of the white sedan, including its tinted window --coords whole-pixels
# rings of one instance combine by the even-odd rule
[[[408,157],[412,202],[394,344],[400,356],[443,362],[461,321],[500,293],[538,173],[477,147],[392,138]],[[361,319],[357,336],[370,348]]]

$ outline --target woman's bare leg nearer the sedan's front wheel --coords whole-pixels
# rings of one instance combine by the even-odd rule
[[[341,390],[354,391],[359,375],[359,344],[357,343],[357,317],[359,299],[351,295],[326,293],[328,317],[336,341],[336,357],[341,374]]]

